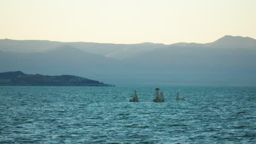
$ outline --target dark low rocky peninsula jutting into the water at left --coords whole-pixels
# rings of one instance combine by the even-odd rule
[[[0,73],[0,86],[100,86],[112,87],[103,82],[74,75],[32,75],[22,71]]]

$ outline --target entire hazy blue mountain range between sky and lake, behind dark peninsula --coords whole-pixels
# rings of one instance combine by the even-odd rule
[[[0,72],[79,75],[115,85],[256,85],[256,40],[101,44],[0,40]]]

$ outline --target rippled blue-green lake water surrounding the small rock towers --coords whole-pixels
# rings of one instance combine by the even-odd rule
[[[160,91],[165,103],[154,87],[0,87],[0,143],[256,143],[255,87]]]

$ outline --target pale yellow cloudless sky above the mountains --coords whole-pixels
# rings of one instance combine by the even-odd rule
[[[0,39],[210,43],[256,38],[255,0],[0,0]]]

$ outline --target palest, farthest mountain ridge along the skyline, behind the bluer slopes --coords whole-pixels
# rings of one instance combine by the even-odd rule
[[[170,46],[186,47],[214,47],[221,49],[256,49],[256,40],[249,37],[233,37],[225,35],[212,43],[176,43],[171,45],[141,43],[141,44],[104,44],[104,43],[85,43],[85,42],[60,42],[49,40],[11,40],[0,39],[0,51],[4,52],[47,52],[56,47],[71,46],[88,53],[94,53],[104,57],[115,59],[127,59],[139,56],[144,52],[154,49],[165,48]]]

